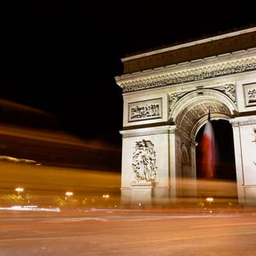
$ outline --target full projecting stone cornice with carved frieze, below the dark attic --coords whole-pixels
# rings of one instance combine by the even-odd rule
[[[252,70],[256,70],[255,48],[179,63],[169,67],[145,70],[115,77],[115,79],[125,93],[228,76]]]

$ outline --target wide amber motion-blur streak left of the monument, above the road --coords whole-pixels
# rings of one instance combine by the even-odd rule
[[[96,205],[114,207],[120,190],[120,175],[97,170],[0,162],[0,175],[1,206],[19,205],[17,202],[14,204],[19,198],[12,197],[17,186],[24,188],[24,192],[20,193],[22,198],[29,195],[28,199],[20,201],[20,205],[23,203],[23,205],[65,207],[65,203],[70,202],[72,205],[67,206],[72,208]],[[65,198],[67,191],[72,191],[74,195],[71,198]],[[104,193],[108,193],[108,200],[102,198]]]

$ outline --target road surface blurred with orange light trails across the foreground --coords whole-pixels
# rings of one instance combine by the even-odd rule
[[[0,256],[256,255],[256,214],[1,212]]]

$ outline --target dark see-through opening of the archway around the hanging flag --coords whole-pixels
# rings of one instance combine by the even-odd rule
[[[196,179],[197,195],[199,198],[214,196],[218,202],[225,203],[227,207],[237,204],[236,163],[234,153],[234,139],[232,126],[228,120],[211,120],[214,131],[215,172],[211,180],[205,180],[202,164],[203,152],[200,152],[200,142],[204,133],[205,124],[196,132]],[[205,154],[205,153],[204,153]]]

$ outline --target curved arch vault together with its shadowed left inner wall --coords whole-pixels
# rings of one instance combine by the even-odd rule
[[[228,85],[229,88],[231,86],[234,88],[232,84]],[[172,101],[172,95],[177,93],[172,93],[169,101],[169,122],[175,127],[171,142],[175,145],[175,150],[171,152],[172,161],[175,161],[171,173],[175,172],[175,180],[171,181],[171,194],[176,193],[176,197],[196,197],[196,134],[207,122],[209,110],[211,120],[232,120],[237,115],[236,99],[214,88],[178,93],[181,96],[176,102]],[[186,159],[189,159],[187,161],[184,161],[184,151],[189,152],[186,154]]]

